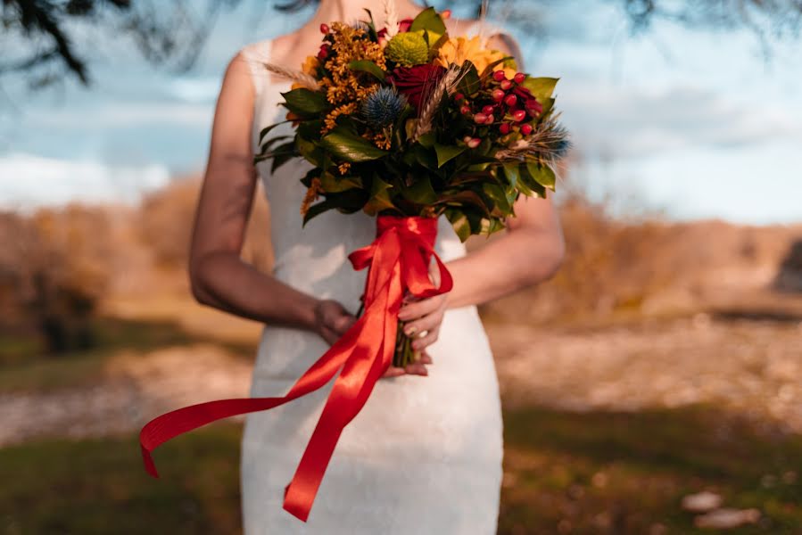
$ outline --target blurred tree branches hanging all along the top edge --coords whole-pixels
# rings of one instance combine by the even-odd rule
[[[553,0],[496,0],[490,10],[525,31],[542,29],[542,10]],[[670,20],[691,27],[754,31],[764,44],[767,37],[798,36],[802,26],[802,0],[596,0],[614,4],[631,21],[633,32],[648,31],[653,21]],[[132,37],[150,62],[175,60],[179,70],[189,69],[221,11],[243,0],[0,0],[4,29],[4,58],[0,75],[24,73],[33,87],[50,85],[65,73],[83,84],[90,81],[92,52],[76,50],[81,24]],[[277,2],[284,11],[314,4],[314,0]],[[426,3],[426,0],[424,0]],[[268,5],[267,2],[263,4]],[[434,2],[482,12],[488,0]],[[442,5],[441,5],[442,4]],[[504,13],[515,16],[503,16]],[[9,46],[9,42],[13,46]],[[12,51],[12,52],[9,52]]]

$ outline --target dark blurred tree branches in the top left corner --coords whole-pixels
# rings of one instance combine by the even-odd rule
[[[0,75],[20,73],[34,88],[62,81],[68,74],[88,85],[88,63],[93,51],[79,51],[75,37],[90,26],[117,37],[130,37],[149,62],[174,61],[178,70],[187,70],[203,49],[203,41],[219,13],[239,3],[240,0],[2,0]]]

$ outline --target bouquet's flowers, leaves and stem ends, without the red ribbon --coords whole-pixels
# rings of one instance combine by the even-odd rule
[[[326,210],[444,215],[465,241],[503,228],[519,194],[554,188],[568,146],[556,78],[517,72],[481,37],[450,37],[434,8],[387,17],[383,29],[366,11],[355,26],[321,25],[302,70],[266,65],[294,80],[282,104],[295,131],[269,137],[277,125],[264,128],[255,161],[272,159],[275,170],[301,156],[314,166],[302,177],[304,224]],[[415,355],[398,333],[393,364],[405,366]]]

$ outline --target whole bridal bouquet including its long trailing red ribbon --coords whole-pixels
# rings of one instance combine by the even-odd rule
[[[451,37],[428,8],[398,21],[385,0],[385,25],[321,25],[322,44],[301,70],[266,64],[294,81],[283,93],[294,135],[264,128],[255,161],[272,169],[294,157],[312,165],[300,210],[303,224],[326,210],[376,216],[376,240],[351,252],[369,268],[359,319],[280,398],[222,399],[153,419],[140,433],[145,468],[161,443],[220,418],[277,407],[336,376],[323,412],[285,489],[284,508],[306,521],[340,433],[388,366],[414,355],[398,321],[405,294],[451,290],[434,253],[437,220],[462,241],[500,230],[520,194],[545,196],[555,162],[568,148],[554,112],[556,78],[517,71],[513,58],[481,37]],[[366,10],[367,11],[367,10]],[[282,124],[282,123],[278,123]],[[429,277],[437,262],[441,282]]]

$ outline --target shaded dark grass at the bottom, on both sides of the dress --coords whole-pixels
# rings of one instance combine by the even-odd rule
[[[0,449],[0,532],[237,533],[240,432],[212,424],[163,446],[160,481],[144,473],[134,434]],[[572,533],[641,535],[656,524],[697,533],[679,502],[705,489],[765,514],[727,533],[802,533],[802,473],[783,481],[802,467],[802,438],[757,432],[711,407],[508,410],[505,449],[502,535],[568,525]]]

